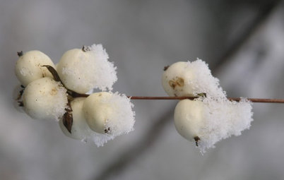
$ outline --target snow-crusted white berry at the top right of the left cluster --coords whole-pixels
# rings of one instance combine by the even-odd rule
[[[57,73],[70,90],[85,93],[93,88],[112,89],[117,80],[114,65],[107,61],[102,45],[71,49],[63,54],[57,64]]]

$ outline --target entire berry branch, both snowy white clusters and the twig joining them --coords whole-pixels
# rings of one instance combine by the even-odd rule
[[[117,67],[101,44],[71,49],[57,65],[40,51],[18,52],[16,100],[32,119],[56,119],[66,136],[101,146],[134,129],[130,100],[179,100],[174,109],[178,133],[201,152],[251,126],[252,102],[284,100],[232,98],[201,59],[165,66],[162,87],[169,97],[126,96],[111,92]],[[102,92],[93,93],[94,88]]]

